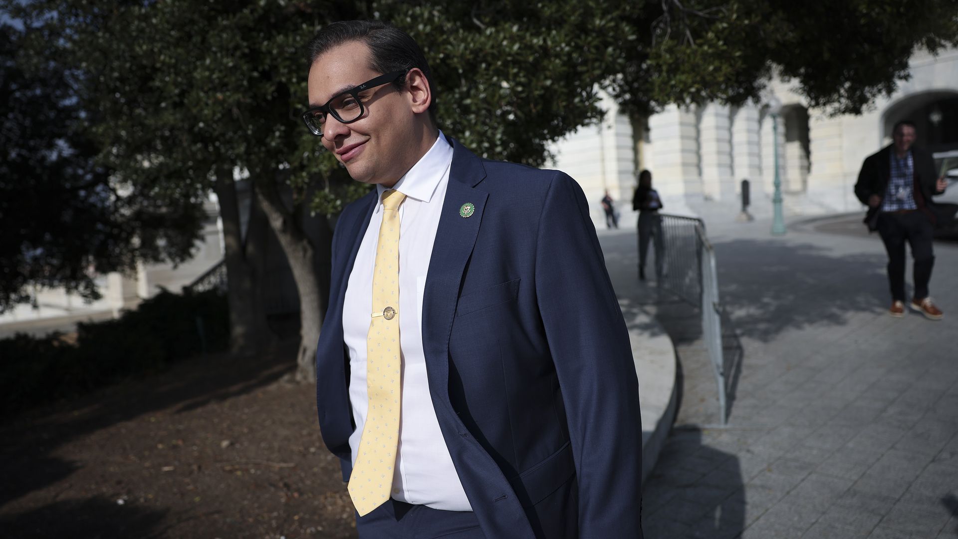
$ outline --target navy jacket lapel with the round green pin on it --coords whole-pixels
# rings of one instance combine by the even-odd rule
[[[449,376],[449,335],[463,272],[479,234],[489,193],[475,187],[486,177],[482,161],[458,141],[450,139],[450,142],[453,155],[449,185],[422,298],[422,350],[433,396],[438,396],[438,392],[451,413],[445,391]],[[463,217],[460,210],[468,203],[474,206],[474,211]]]

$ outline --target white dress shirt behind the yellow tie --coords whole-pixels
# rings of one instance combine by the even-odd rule
[[[448,511],[471,511],[472,506],[445,447],[436,410],[429,396],[422,352],[422,295],[436,240],[440,214],[449,183],[452,147],[442,131],[393,187],[406,196],[399,206],[399,358],[402,362],[402,403],[399,448],[393,474],[392,497],[409,504]],[[379,201],[356,253],[343,305],[343,337],[350,352],[350,402],[355,432],[350,436],[353,464],[366,424],[369,397],[366,388],[366,335],[373,310],[373,268],[382,223]]]

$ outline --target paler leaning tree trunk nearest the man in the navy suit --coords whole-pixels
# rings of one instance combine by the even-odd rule
[[[300,299],[300,346],[296,357],[298,382],[313,382],[316,379],[316,341],[323,325],[326,292],[321,286],[321,273],[316,269],[316,249],[298,219],[280,197],[276,180],[263,178],[255,183],[257,199],[262,204],[266,220],[276,232],[283,246],[289,268]]]

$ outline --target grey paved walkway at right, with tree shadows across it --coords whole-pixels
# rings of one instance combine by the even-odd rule
[[[878,236],[773,238],[732,217],[706,217],[741,358],[726,427],[697,313],[636,283],[634,231],[600,232],[617,292],[657,314],[681,363],[647,538],[958,538],[958,245],[935,246],[945,319],[898,319]]]

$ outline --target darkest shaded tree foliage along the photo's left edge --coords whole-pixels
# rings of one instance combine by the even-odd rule
[[[97,274],[185,260],[205,218],[195,199],[131,190],[98,164],[73,74],[24,39],[0,26],[0,312],[29,285],[96,298]]]

